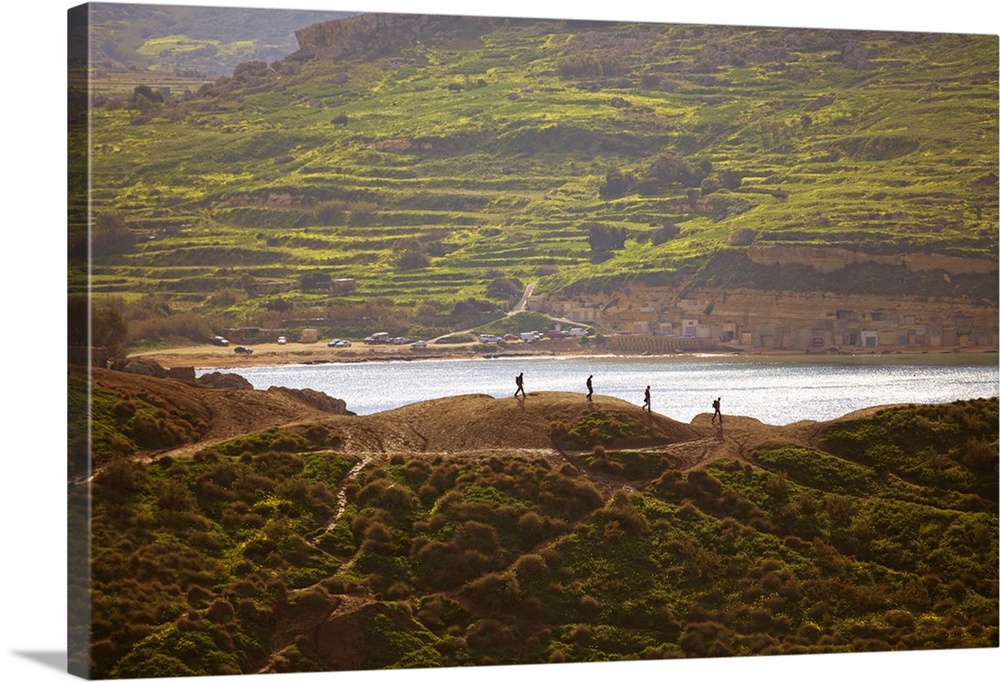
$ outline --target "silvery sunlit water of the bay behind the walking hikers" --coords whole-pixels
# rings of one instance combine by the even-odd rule
[[[209,369],[199,369],[204,374]],[[998,394],[995,355],[928,355],[893,360],[885,356],[812,358],[739,357],[536,357],[475,360],[284,365],[224,370],[254,388],[311,388],[347,401],[349,410],[372,414],[421,400],[480,393],[514,394],[514,376],[524,372],[525,390],[594,392],[636,405],[650,386],[652,407],[690,422],[712,411],[722,397],[724,414],[767,424],[801,419],[823,421],[865,407],[896,403],[940,403]]]

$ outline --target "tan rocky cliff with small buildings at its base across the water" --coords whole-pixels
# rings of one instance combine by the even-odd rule
[[[652,346],[626,338],[623,343],[635,345],[633,350],[718,344],[748,349],[919,350],[996,347],[998,342],[997,306],[965,299],[721,288],[681,293],[631,285],[614,294],[535,297],[529,307],[613,332],[660,337]]]

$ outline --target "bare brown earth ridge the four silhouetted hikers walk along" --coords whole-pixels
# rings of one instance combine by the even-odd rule
[[[82,369],[70,369],[71,380],[80,390],[86,376]],[[558,391],[530,392],[523,398],[457,395],[353,415],[347,413],[349,406],[319,400],[314,391],[253,390],[236,376],[230,382],[212,381],[213,377],[186,382],[101,369],[90,370],[89,376],[95,391],[95,419],[106,426],[115,424],[113,430],[132,442],[132,456],[146,461],[190,456],[227,441],[239,443],[263,433],[273,437],[291,429],[310,432],[310,439],[319,438],[314,445],[320,449],[333,445],[340,452],[381,457],[504,450],[572,452],[597,444],[616,449],[699,451],[697,457],[681,458],[689,468],[752,449],[751,441],[806,443],[809,434],[822,430],[814,422],[775,426],[738,415],[726,418],[724,430],[712,424],[708,414],[683,424],[599,394],[593,402],[580,393]],[[153,413],[152,418],[139,424],[142,420],[137,416],[146,412]],[[124,454],[101,441],[93,445],[97,465]]]

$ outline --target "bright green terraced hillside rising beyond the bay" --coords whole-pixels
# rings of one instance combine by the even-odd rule
[[[146,320],[130,343],[428,337],[531,282],[997,300],[995,271],[792,282],[743,255],[995,262],[996,36],[359,15],[298,39],[188,92],[96,99],[70,290]]]

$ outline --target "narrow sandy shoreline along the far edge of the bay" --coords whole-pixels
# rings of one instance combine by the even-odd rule
[[[237,354],[232,347],[211,345],[183,346],[131,353],[127,360],[154,360],[164,368],[194,367],[198,370],[232,370],[241,367],[267,367],[281,365],[322,365],[351,364],[368,362],[414,362],[421,360],[479,360],[535,357],[619,357],[670,359],[703,359],[719,357],[726,359],[786,359],[808,361],[837,361],[838,359],[898,359],[913,360],[927,358],[989,358],[997,359],[997,349],[989,347],[956,347],[914,350],[899,347],[859,349],[856,352],[814,352],[801,350],[741,350],[720,349],[717,351],[687,351],[674,353],[615,353],[605,348],[584,346],[576,340],[555,340],[540,342],[541,347],[501,348],[495,352],[475,350],[474,344],[455,346],[428,346],[412,349],[408,346],[352,346],[350,348],[329,348],[322,344],[266,343],[254,346],[251,355]]]

